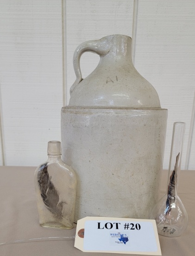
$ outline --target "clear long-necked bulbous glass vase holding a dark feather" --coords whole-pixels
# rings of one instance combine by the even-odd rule
[[[184,132],[185,123],[175,122],[173,125],[167,192],[151,212],[150,218],[156,220],[158,234],[163,236],[181,236],[188,225],[188,214],[177,195]]]

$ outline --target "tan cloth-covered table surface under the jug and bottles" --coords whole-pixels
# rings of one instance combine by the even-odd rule
[[[75,227],[62,230],[39,226],[34,191],[35,169],[33,167],[0,167],[0,243],[41,237],[75,236]],[[160,189],[162,194],[166,190],[167,177],[168,172],[163,171]],[[178,194],[188,212],[188,228],[179,237],[159,236],[162,255],[195,256],[195,171],[181,171]],[[0,256],[113,255],[82,252],[74,247],[74,243],[74,238],[66,238],[65,240],[4,244],[0,245]]]

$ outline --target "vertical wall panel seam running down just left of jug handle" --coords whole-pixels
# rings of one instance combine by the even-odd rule
[[[62,0],[62,58],[63,58],[63,106],[67,105],[67,65],[66,65],[66,0]]]

